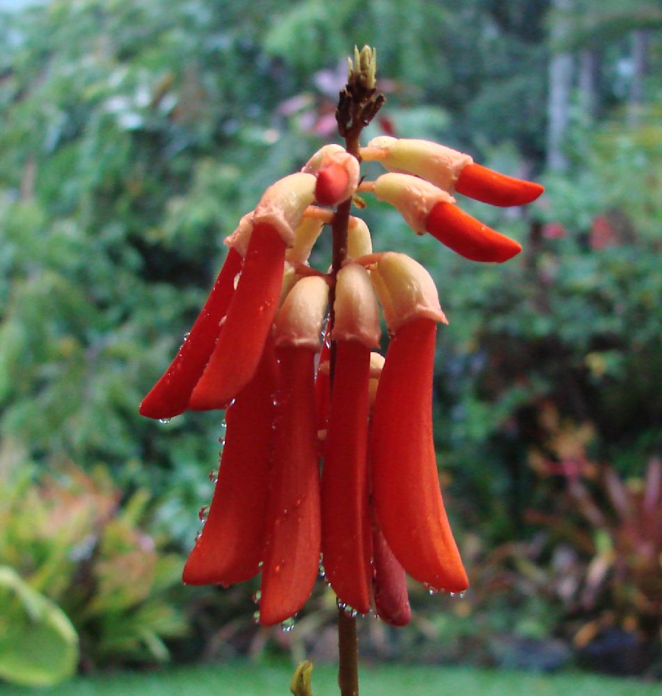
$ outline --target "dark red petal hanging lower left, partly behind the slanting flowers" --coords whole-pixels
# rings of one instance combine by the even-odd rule
[[[255,377],[226,411],[226,443],[209,516],[189,560],[188,585],[233,585],[258,574],[265,543],[276,359],[267,343]]]

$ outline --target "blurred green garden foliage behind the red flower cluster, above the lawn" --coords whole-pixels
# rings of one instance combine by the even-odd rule
[[[523,244],[503,267],[365,211],[375,249],[424,262],[450,319],[436,437],[472,587],[413,583],[411,627],[364,619],[363,654],[660,677],[660,3],[0,9],[0,678],[335,659],[321,582],[291,633],[253,625],[251,583],[180,586],[220,416],[161,425],[137,406],[223,238],[337,141],[346,56],[364,43],[388,98],[364,143],[433,139],[547,190],[525,210],[462,202]]]

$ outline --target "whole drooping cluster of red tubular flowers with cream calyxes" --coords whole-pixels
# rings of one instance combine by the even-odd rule
[[[141,404],[158,419],[226,409],[218,480],[184,582],[261,574],[265,625],[303,606],[320,555],[339,603],[395,625],[411,617],[406,574],[433,590],[468,585],[432,438],[436,324],[446,322],[434,282],[406,255],[373,253],[354,217],[340,269],[316,271],[308,256],[333,207],[361,191],[418,234],[503,262],[519,244],[462,212],[453,194],[522,205],[542,187],[427,141],[379,137],[360,154],[387,172],[359,183],[358,159],[327,145],[265,191],[226,240],[203,310]]]

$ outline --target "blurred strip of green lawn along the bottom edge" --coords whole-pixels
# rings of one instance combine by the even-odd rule
[[[78,677],[29,689],[0,683],[1,696],[287,696],[292,669],[249,663]],[[361,696],[659,696],[659,683],[565,672],[380,665],[361,669]],[[313,670],[315,696],[338,696],[333,667]]]

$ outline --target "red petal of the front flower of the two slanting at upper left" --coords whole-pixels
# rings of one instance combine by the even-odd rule
[[[270,225],[256,225],[223,331],[189,408],[223,409],[253,377],[278,309],[284,262],[281,235]]]

